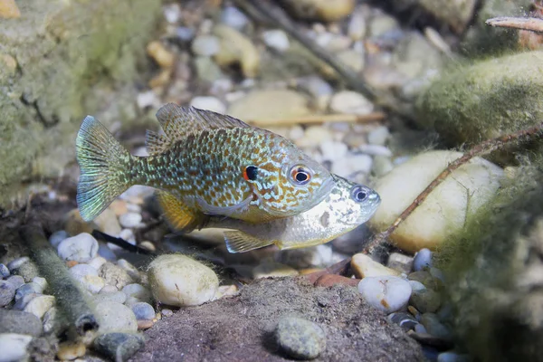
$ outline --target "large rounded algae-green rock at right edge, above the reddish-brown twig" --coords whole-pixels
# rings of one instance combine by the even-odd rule
[[[443,75],[417,100],[418,122],[449,145],[477,143],[543,119],[543,52],[475,62]]]

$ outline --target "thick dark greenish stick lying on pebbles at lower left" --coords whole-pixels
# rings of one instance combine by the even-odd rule
[[[47,242],[42,227],[38,224],[28,224],[21,228],[19,234],[32,253],[33,261],[49,282],[56,305],[64,312],[71,328],[74,328],[80,336],[97,331],[99,326],[93,311],[71,278],[66,265]]]

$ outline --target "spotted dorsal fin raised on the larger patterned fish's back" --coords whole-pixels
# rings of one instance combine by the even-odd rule
[[[240,119],[215,113],[211,110],[198,110],[194,107],[180,107],[167,103],[157,111],[157,119],[167,138],[174,141],[186,138],[198,130],[250,128]]]

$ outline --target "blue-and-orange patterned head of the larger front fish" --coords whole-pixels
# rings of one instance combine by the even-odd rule
[[[258,176],[245,179],[259,206],[274,217],[289,217],[319,205],[334,186],[329,171],[300,148],[283,140],[254,165]]]

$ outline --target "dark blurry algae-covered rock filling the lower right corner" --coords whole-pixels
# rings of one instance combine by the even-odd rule
[[[518,172],[438,253],[456,333],[477,360],[543,360],[543,173]]]

